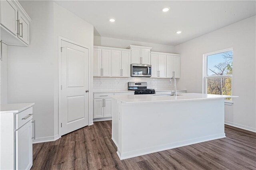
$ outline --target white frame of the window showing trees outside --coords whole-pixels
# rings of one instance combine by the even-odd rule
[[[219,53],[224,53],[224,52],[228,52],[228,51],[232,51],[233,52],[233,57],[234,57],[234,51],[233,48],[227,48],[227,49],[222,49],[219,51],[214,51],[211,53],[206,53],[203,55],[203,93],[207,94],[207,78],[221,78],[221,77],[231,77],[231,95],[233,95],[233,73],[232,75],[214,75],[214,76],[208,76],[207,75],[207,70],[208,70],[208,65],[207,65],[207,61],[208,61],[208,56],[209,55],[214,55],[214,54],[219,54]],[[225,104],[227,105],[232,105],[233,100],[231,98],[231,100],[225,100]]]

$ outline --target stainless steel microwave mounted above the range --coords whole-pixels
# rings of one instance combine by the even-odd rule
[[[132,77],[151,77],[151,65],[131,64]]]

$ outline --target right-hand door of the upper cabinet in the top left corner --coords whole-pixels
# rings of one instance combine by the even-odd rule
[[[20,11],[18,11],[18,18],[20,20],[18,38],[29,45],[29,22]]]

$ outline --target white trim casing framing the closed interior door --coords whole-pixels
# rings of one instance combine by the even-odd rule
[[[91,63],[91,48],[86,46],[86,45],[83,45],[81,43],[78,43],[78,42],[75,42],[73,40],[70,40],[68,38],[64,38],[62,36],[58,36],[58,137],[61,138],[61,133],[60,133],[60,121],[61,121],[61,114],[60,114],[60,111],[61,111],[61,41],[65,41],[65,42],[68,42],[68,43],[72,43],[74,45],[78,45],[80,47],[83,47],[83,48],[86,48],[88,49],[89,51],[89,54],[88,54],[88,63]],[[89,96],[88,96],[88,125],[92,125],[93,123],[90,122],[90,97],[93,95],[92,94],[92,87],[91,87],[91,64],[88,65],[88,75],[89,75],[89,78],[88,78],[88,89],[89,89]]]

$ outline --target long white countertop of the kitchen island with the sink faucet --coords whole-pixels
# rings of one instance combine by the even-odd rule
[[[175,102],[175,101],[198,101],[209,99],[224,99],[226,97],[238,97],[227,95],[208,95],[202,93],[180,93],[178,96],[164,95],[113,95],[113,99],[123,103],[156,103],[156,102]]]

